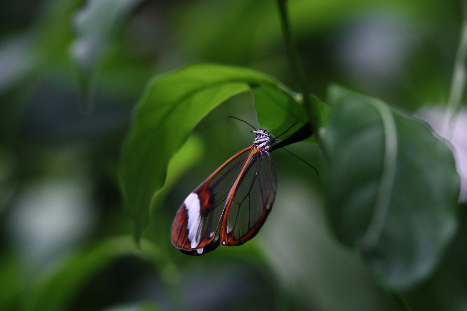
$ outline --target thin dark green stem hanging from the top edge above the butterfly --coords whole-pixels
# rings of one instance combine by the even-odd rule
[[[289,22],[289,13],[287,10],[287,0],[277,0],[279,5],[279,13],[281,17],[281,28],[282,36],[284,38],[285,50],[290,62],[290,68],[292,70],[295,79],[297,80],[299,92],[303,95],[303,104],[305,106],[305,111],[307,117],[310,119],[311,131],[314,132],[316,128],[316,116],[314,113],[314,107],[312,107],[308,88],[306,87],[305,74],[303,67],[298,57],[297,49],[292,41],[292,36],[290,34],[290,22]]]

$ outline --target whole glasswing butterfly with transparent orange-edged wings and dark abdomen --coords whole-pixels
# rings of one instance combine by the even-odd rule
[[[264,129],[251,132],[256,135],[253,144],[219,166],[178,209],[171,240],[183,253],[199,256],[219,245],[238,246],[253,238],[276,199],[276,168],[270,152],[311,135],[306,129],[296,135],[298,130],[291,140],[276,144],[285,132],[277,138]]]

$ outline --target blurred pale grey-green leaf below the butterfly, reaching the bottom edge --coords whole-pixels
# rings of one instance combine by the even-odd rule
[[[400,311],[358,253],[325,228],[318,188],[289,175],[278,180],[278,189],[256,241],[283,286],[307,306],[298,310]]]

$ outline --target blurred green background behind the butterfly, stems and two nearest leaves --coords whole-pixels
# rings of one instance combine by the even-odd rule
[[[461,16],[457,0],[290,0],[312,93],[324,100],[340,83],[435,130]],[[118,190],[120,144],[148,80],[193,61],[246,66],[295,87],[273,0],[1,0],[0,310],[398,310],[330,234],[318,177],[281,150],[275,207],[255,239],[201,257],[171,245],[186,195],[251,144],[248,125],[226,122],[259,127],[250,93],[195,128],[190,160],[135,249]],[[452,142],[466,171],[465,109],[457,120]],[[318,146],[290,150],[319,169]],[[414,311],[466,310],[463,214],[436,270],[404,292]]]

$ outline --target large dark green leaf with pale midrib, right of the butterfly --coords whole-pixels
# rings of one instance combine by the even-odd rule
[[[427,124],[338,86],[322,133],[328,218],[390,286],[433,270],[456,228],[460,181],[453,153]]]

